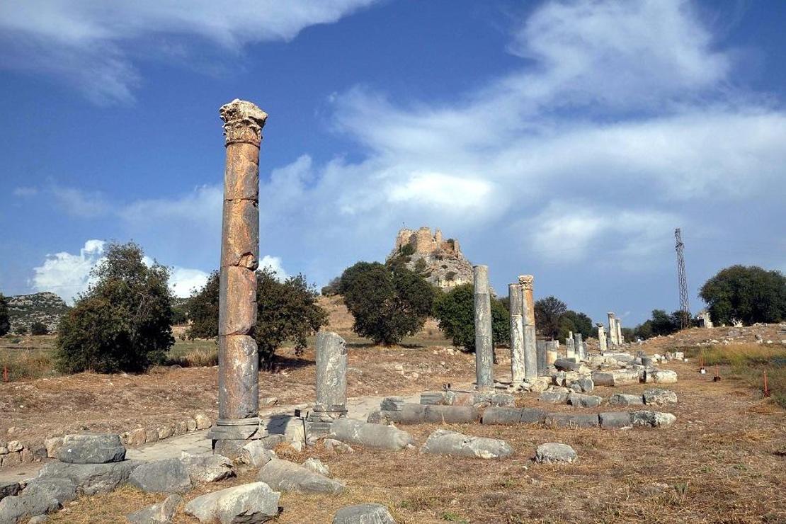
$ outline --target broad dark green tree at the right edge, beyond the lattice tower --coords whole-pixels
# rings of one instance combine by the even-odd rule
[[[730,324],[775,323],[786,318],[786,277],[758,266],[721,269],[700,289],[712,321]]]

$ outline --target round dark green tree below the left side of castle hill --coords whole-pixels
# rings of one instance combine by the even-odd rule
[[[358,262],[344,270],[340,289],[354,332],[385,346],[419,332],[434,302],[434,288],[401,264]]]

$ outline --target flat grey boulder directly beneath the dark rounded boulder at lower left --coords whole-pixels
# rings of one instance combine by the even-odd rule
[[[76,485],[77,493],[95,495],[109,493],[127,482],[131,472],[140,464],[142,463],[139,460],[107,464],[50,462],[41,468],[37,478],[68,478]]]

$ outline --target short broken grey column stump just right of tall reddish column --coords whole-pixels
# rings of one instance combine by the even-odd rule
[[[347,343],[333,332],[317,333],[316,389],[310,432],[324,434],[329,423],[347,416]]]

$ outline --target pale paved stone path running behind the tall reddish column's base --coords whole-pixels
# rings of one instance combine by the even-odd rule
[[[365,420],[369,413],[380,408],[380,402],[384,397],[358,397],[347,399],[348,416],[353,419]],[[420,394],[402,395],[407,402],[420,402]],[[276,406],[272,409],[263,410],[260,416],[266,421],[268,431],[271,434],[292,434],[299,432],[302,438],[302,422],[292,416],[295,409],[310,409],[312,403]],[[188,433],[176,437],[165,438],[163,440],[141,445],[138,448],[129,448],[126,454],[128,459],[133,460],[158,460],[171,457],[179,457],[180,453],[209,453],[211,442],[208,440],[208,431],[189,431]],[[35,477],[39,469],[45,463],[20,464],[17,467],[0,469],[0,482],[19,481]]]

